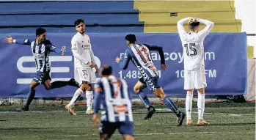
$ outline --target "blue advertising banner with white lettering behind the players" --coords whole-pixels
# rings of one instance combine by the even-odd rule
[[[75,33],[74,33],[75,34]],[[71,52],[71,38],[74,34],[51,34],[48,39],[57,47],[66,46],[65,56],[51,53],[51,78],[69,80],[77,78],[74,70],[73,55]],[[34,34],[11,34],[15,39],[34,40]],[[98,59],[98,65],[111,65],[118,78],[125,78],[131,92],[138,81],[139,70],[130,62],[128,70],[121,70],[115,58],[124,53],[128,47],[125,43],[126,33],[121,34],[89,34],[92,51]],[[135,34],[138,43],[160,45],[164,49],[164,56],[168,70],[160,69],[160,56],[152,51],[151,56],[160,73],[159,84],[167,95],[186,95],[183,89],[183,51],[180,38],[176,33],[168,34]],[[34,58],[29,45],[4,43],[0,34],[0,97],[26,97],[29,84],[35,73]],[[205,38],[205,75],[208,87],[206,95],[241,95],[246,90],[247,60],[246,60],[246,33],[211,33]],[[97,74],[97,77],[99,75]],[[36,97],[71,97],[76,91],[73,86],[47,91],[38,86]],[[148,89],[147,95],[153,95]]]

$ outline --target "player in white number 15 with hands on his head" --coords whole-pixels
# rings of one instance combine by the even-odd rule
[[[183,24],[189,22],[189,32],[186,32]],[[199,30],[200,23],[204,23],[205,29]],[[205,61],[203,41],[213,28],[214,23],[200,18],[183,18],[178,21],[178,33],[183,46],[184,56],[184,89],[186,90],[186,114],[187,125],[193,125],[191,109],[194,89],[197,89],[198,121],[197,125],[207,125],[203,119],[205,110]]]

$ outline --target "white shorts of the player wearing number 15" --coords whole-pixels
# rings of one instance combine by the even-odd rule
[[[205,67],[199,70],[184,70],[184,89],[202,89],[207,87],[205,78]]]

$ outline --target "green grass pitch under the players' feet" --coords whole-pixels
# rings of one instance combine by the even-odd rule
[[[184,105],[178,105],[184,110]],[[207,103],[207,126],[176,126],[176,117],[156,105],[157,113],[143,120],[145,109],[134,106],[135,139],[255,139],[255,103]],[[197,121],[197,108],[192,113]],[[30,112],[15,112],[10,106],[0,107],[0,139],[98,139],[98,128],[85,106],[76,106],[77,116],[70,116],[64,106],[32,106]],[[185,124],[185,123],[184,123]],[[112,139],[122,139],[114,133]]]

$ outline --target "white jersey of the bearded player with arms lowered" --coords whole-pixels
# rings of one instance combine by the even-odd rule
[[[87,34],[77,32],[71,40],[71,50],[74,55],[75,67],[87,67],[88,62],[95,63],[92,45]]]

